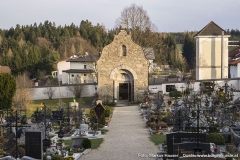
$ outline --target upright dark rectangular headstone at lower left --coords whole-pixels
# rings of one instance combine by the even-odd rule
[[[25,154],[26,156],[42,159],[42,135],[41,132],[25,133]]]

